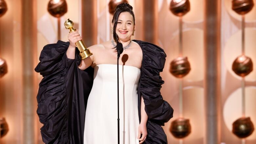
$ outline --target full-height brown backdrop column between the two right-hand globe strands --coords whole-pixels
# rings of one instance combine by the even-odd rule
[[[205,0],[205,109],[206,144],[219,142],[220,0]]]

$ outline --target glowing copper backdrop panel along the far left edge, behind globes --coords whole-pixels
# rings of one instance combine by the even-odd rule
[[[0,79],[1,116],[6,118],[9,132],[0,139],[1,144],[22,144],[22,56],[21,56],[21,1],[7,1],[8,11],[0,25],[1,57],[7,61],[8,73]]]

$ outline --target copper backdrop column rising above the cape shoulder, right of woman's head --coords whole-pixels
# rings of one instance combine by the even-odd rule
[[[143,2],[143,39],[158,44],[158,1],[142,0]],[[135,31],[136,32],[136,31]]]

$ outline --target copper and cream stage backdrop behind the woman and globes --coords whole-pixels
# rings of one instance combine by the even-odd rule
[[[0,139],[1,144],[43,144],[40,128],[42,124],[36,115],[36,93],[42,76],[33,68],[39,62],[39,54],[44,45],[57,42],[57,18],[47,11],[49,0],[5,0],[8,11],[0,18],[0,57],[8,65],[8,73],[0,79],[0,116],[6,118],[8,134]],[[112,39],[108,11],[110,0],[66,0],[68,11],[60,18],[61,40],[68,41],[69,30],[64,21],[73,20],[75,28],[82,34],[87,47]],[[206,0],[189,0],[190,11],[183,17],[183,55],[188,57],[191,71],[183,80],[183,117],[190,120],[191,134],[179,140],[169,131],[171,122],[179,117],[179,79],[170,74],[170,62],[178,57],[179,18],[169,10],[171,0],[128,0],[133,6],[136,31],[132,39],[145,40],[159,45],[167,54],[161,76],[165,83],[161,94],[174,109],[174,117],[163,126],[168,143],[207,144],[206,116],[207,83],[205,75],[206,53],[204,37],[209,21],[204,13]],[[256,132],[241,139],[232,134],[232,123],[241,117],[241,78],[231,69],[234,59],[241,54],[241,16],[231,9],[232,0],[220,0],[221,17],[215,20],[221,24],[220,95],[212,109],[219,115],[219,143],[255,144]],[[256,4],[256,0],[253,0]],[[29,3],[29,5],[28,5]],[[26,7],[25,7],[26,6]],[[245,16],[245,54],[256,64],[256,6]],[[32,14],[32,15],[31,15]],[[25,27],[26,26],[26,27]],[[216,38],[216,37],[213,37]],[[218,38],[218,36],[217,36]],[[31,43],[29,43],[31,42]],[[217,57],[218,57],[217,56]],[[215,63],[213,61],[211,63]],[[27,68],[27,66],[30,66]],[[208,87],[211,87],[208,86]],[[256,125],[256,71],[245,78],[245,116],[250,116]],[[208,111],[206,111],[206,109]],[[215,125],[217,127],[217,125]]]

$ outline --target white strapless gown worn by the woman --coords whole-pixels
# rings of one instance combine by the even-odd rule
[[[138,82],[140,69],[119,65],[120,144],[139,144]],[[117,144],[117,65],[99,64],[89,95],[84,144]]]

